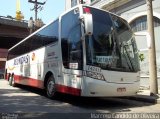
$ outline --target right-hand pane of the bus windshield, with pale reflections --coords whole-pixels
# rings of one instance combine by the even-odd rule
[[[112,19],[120,53],[120,62],[117,67],[123,67],[128,71],[139,71],[137,46],[129,24],[115,15],[112,15]]]

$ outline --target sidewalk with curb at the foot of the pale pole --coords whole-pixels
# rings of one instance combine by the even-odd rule
[[[130,98],[134,99],[134,100],[137,100],[137,101],[160,104],[160,89],[159,89],[158,92],[159,93],[156,96],[150,96],[150,90],[149,89],[141,88],[136,96],[132,96]]]

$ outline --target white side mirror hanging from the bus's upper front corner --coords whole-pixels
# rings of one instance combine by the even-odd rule
[[[83,14],[80,17],[81,21],[84,22],[85,35],[93,34],[93,18],[92,14]]]

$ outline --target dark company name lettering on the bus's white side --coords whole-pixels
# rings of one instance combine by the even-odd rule
[[[29,55],[22,56],[14,60],[14,65],[19,65],[19,64],[24,64],[24,63],[25,64],[29,63]]]

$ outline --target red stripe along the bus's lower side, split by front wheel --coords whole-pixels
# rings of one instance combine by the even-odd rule
[[[29,77],[22,77],[19,75],[14,75],[14,78],[15,78],[15,82],[18,84],[44,89],[44,84],[43,84],[44,82],[41,80],[37,80]],[[56,89],[58,92],[61,92],[61,93],[67,93],[67,94],[72,94],[76,96],[81,95],[81,89],[77,89],[73,87],[56,84]]]

